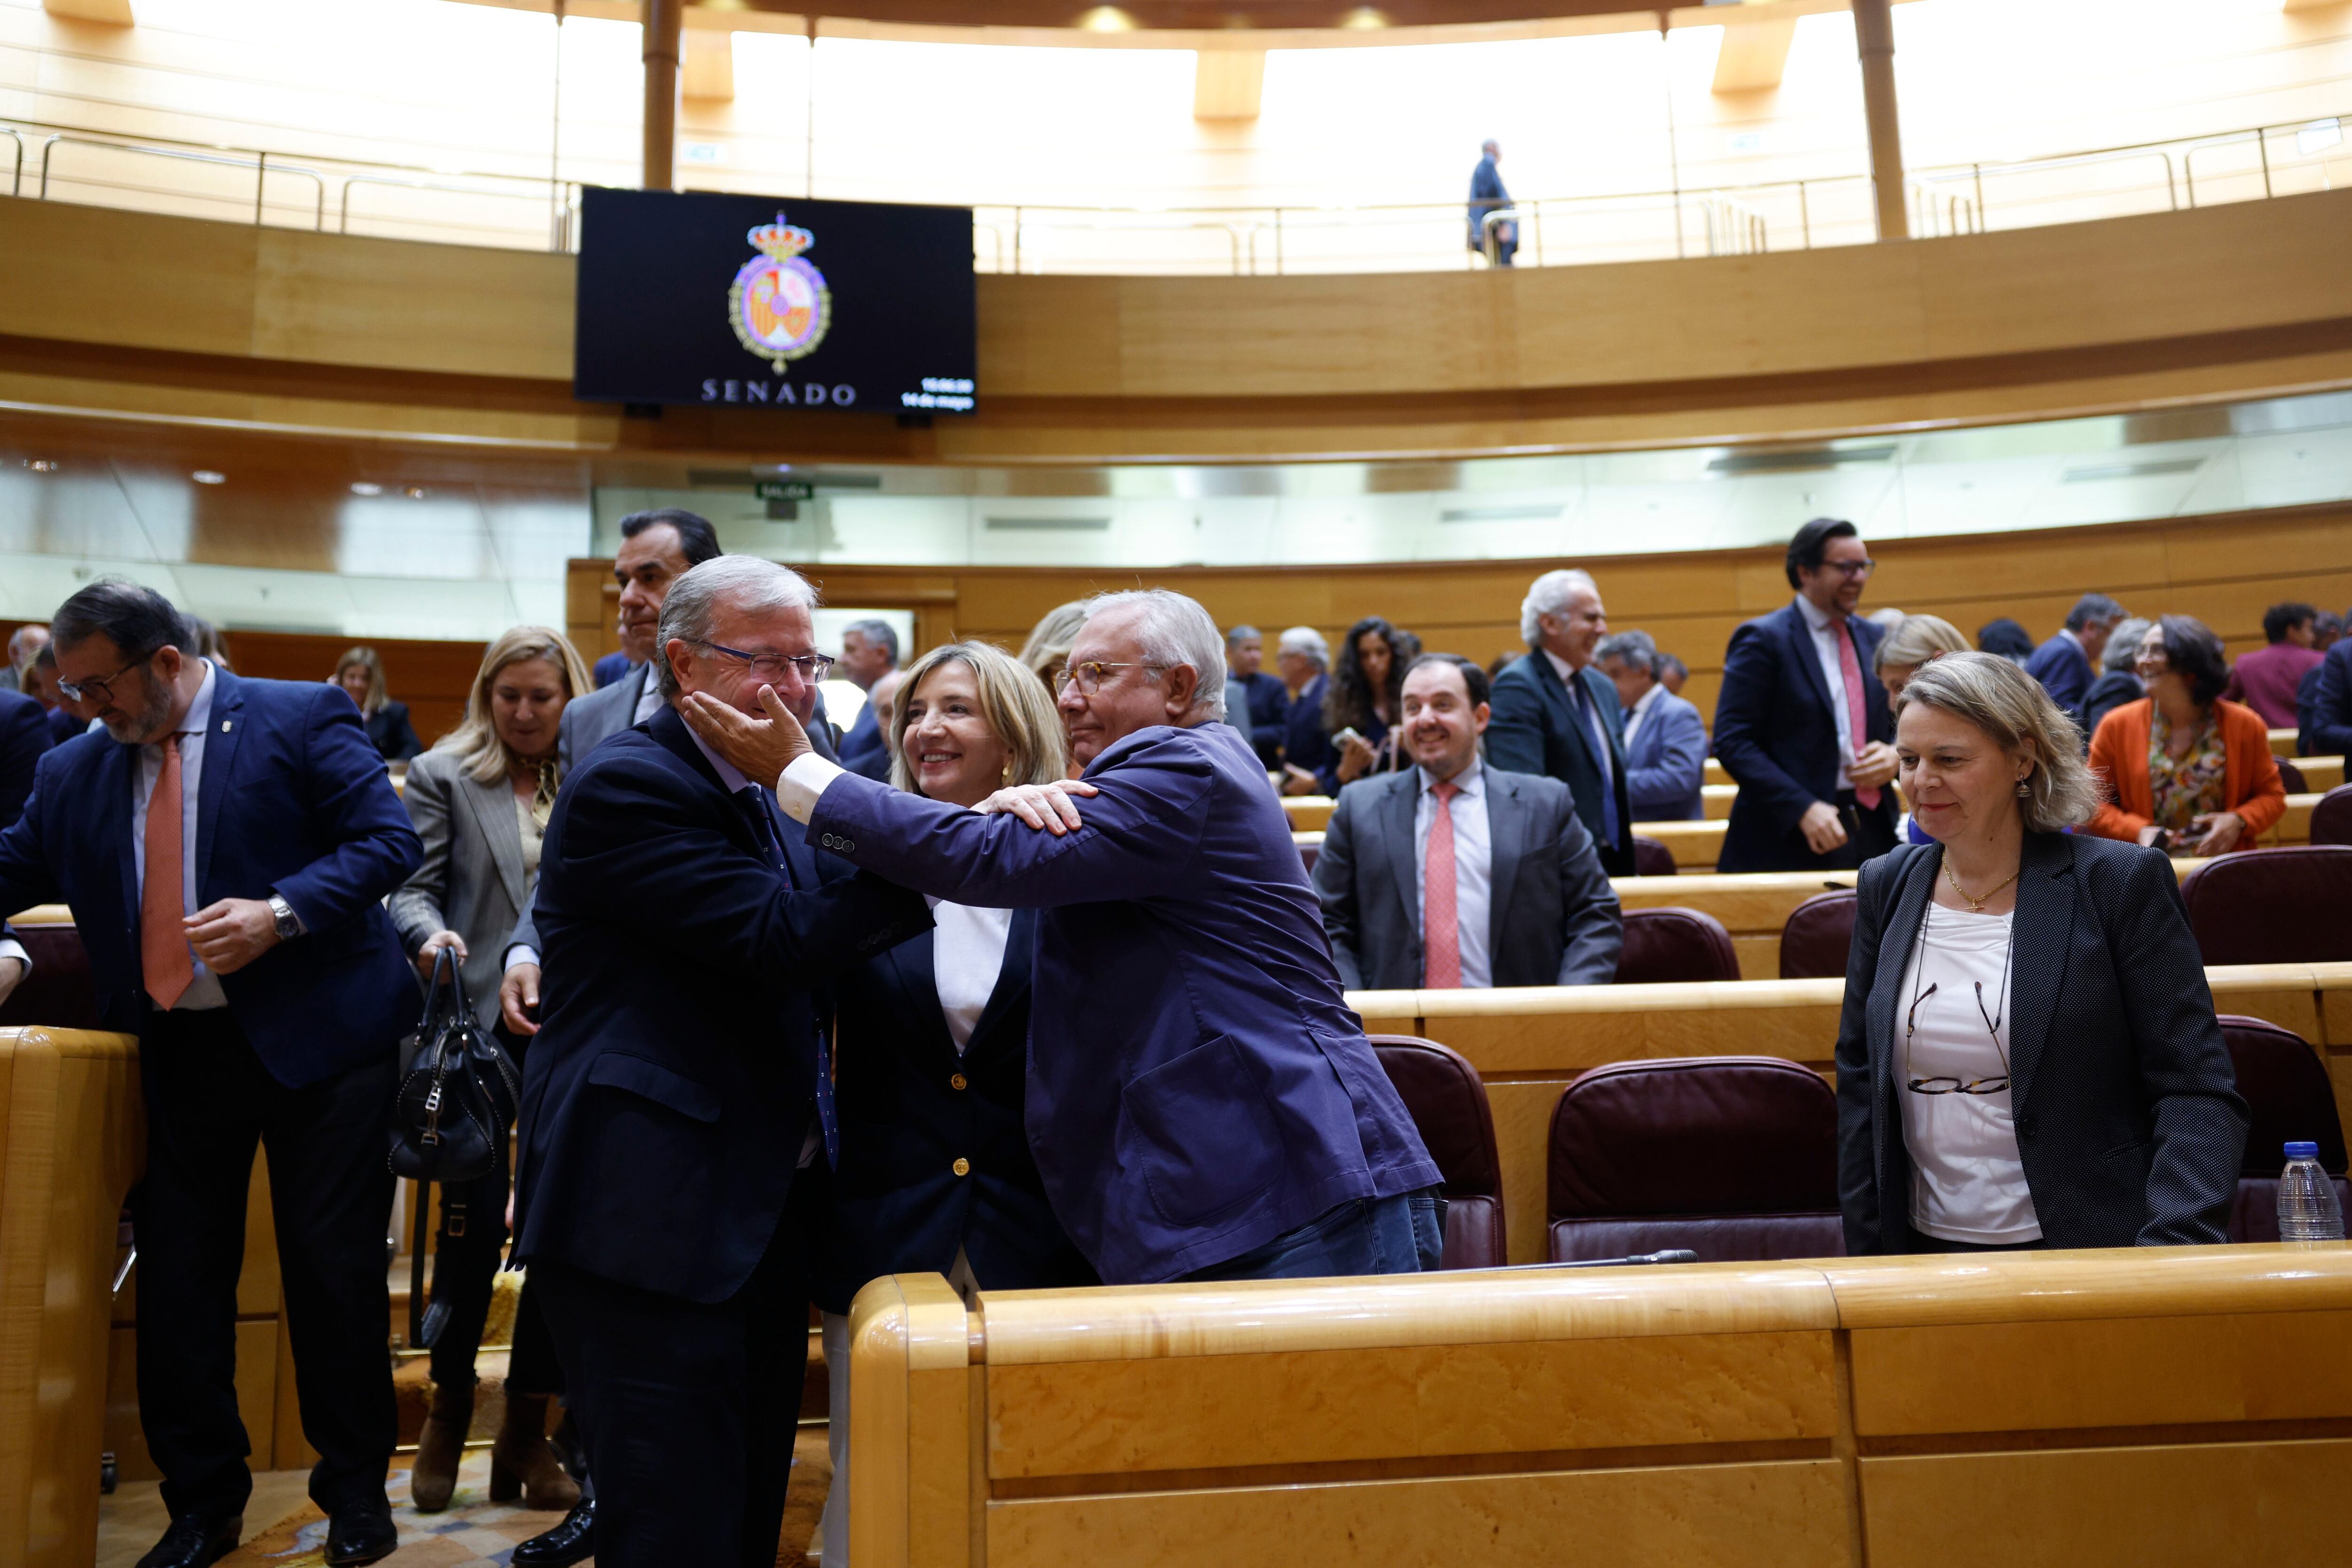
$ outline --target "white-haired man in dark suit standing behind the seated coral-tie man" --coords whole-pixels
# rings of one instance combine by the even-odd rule
[[[1486,762],[1569,785],[1602,870],[1632,877],[1632,797],[1625,790],[1625,717],[1616,686],[1592,665],[1609,611],[1590,574],[1545,571],[1519,607],[1531,649],[1494,677]]]

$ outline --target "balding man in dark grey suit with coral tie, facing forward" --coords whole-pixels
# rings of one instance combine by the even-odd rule
[[[1399,710],[1416,766],[1341,790],[1315,858],[1341,983],[1616,980],[1625,924],[1569,788],[1479,762],[1486,672],[1458,654],[1423,654],[1404,672]]]

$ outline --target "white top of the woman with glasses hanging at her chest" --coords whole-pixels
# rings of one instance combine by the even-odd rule
[[[2009,1051],[2009,914],[1969,914],[1929,905],[1924,938],[1912,943],[1896,994],[1896,1103],[1910,1150],[1910,1222],[1943,1241],[1983,1246],[2042,1234],[2034,1194],[2018,1157],[2009,1091],[1992,1095],[1919,1095],[1915,1077],[1994,1079]],[[1983,985],[1978,1011],[1976,985]],[[1936,994],[1926,994],[1929,987]],[[1905,1013],[1919,1001],[1905,1053]],[[1985,1018],[1999,1020],[1999,1048]]]

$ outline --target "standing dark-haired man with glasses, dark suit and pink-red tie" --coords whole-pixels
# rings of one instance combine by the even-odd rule
[[[1851,522],[1816,517],[1788,543],[1797,599],[1731,632],[1715,757],[1738,783],[1722,872],[1851,870],[1896,844],[1884,628],[1853,609],[1877,562]]]

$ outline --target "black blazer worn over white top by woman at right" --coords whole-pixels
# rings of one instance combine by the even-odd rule
[[[1915,1253],[1903,1145],[1903,969],[1940,844],[1863,865],[1837,1027],[1837,1190],[1849,1253]],[[2246,1105],[2166,858],[2027,832],[2009,978],[2018,1154],[2049,1246],[2220,1241]]]

